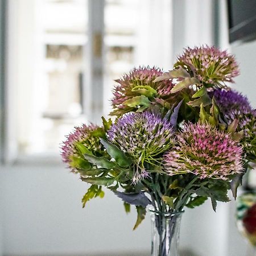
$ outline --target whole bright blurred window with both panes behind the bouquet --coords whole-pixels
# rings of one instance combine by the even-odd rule
[[[161,3],[9,1],[8,130],[19,155],[59,152],[74,125],[110,112],[114,79],[140,64],[171,64],[171,1]],[[159,32],[166,26],[170,30]],[[166,44],[164,58],[155,51],[162,46],[156,33]],[[92,52],[101,38],[97,59]]]

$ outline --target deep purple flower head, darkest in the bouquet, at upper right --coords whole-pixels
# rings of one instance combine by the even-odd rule
[[[209,92],[209,96],[214,97],[224,115],[228,115],[232,110],[251,109],[247,97],[236,90],[215,89]]]

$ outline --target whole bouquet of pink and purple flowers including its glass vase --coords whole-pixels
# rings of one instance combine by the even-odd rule
[[[185,207],[210,198],[236,198],[243,174],[256,162],[256,110],[228,87],[239,74],[234,56],[214,47],[186,48],[174,68],[134,68],[115,80],[115,118],[82,125],[67,135],[61,155],[72,172],[92,184],[83,207],[103,197],[123,200],[126,212],[152,219],[152,255],[178,255]]]

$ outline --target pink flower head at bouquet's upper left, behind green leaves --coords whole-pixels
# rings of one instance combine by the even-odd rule
[[[139,67],[131,70],[129,74],[125,74],[121,79],[115,80],[117,85],[113,90],[112,106],[114,111],[112,114],[122,115],[134,110],[134,107],[126,105],[125,101],[142,95],[142,90],[138,90],[137,86],[150,86],[156,92],[155,94],[152,93],[152,97],[168,98],[169,101],[174,100],[174,95],[171,94],[171,89],[174,87],[172,81],[153,82],[156,77],[162,74],[163,72],[160,68]],[[179,99],[174,103],[177,101]]]

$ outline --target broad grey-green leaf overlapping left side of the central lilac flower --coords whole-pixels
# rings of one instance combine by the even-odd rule
[[[127,158],[125,153],[120,150],[117,146],[113,145],[112,143],[105,141],[105,139],[100,139],[102,145],[108,151],[108,154],[115,159],[115,162],[121,167],[130,166],[133,163],[133,160]]]

